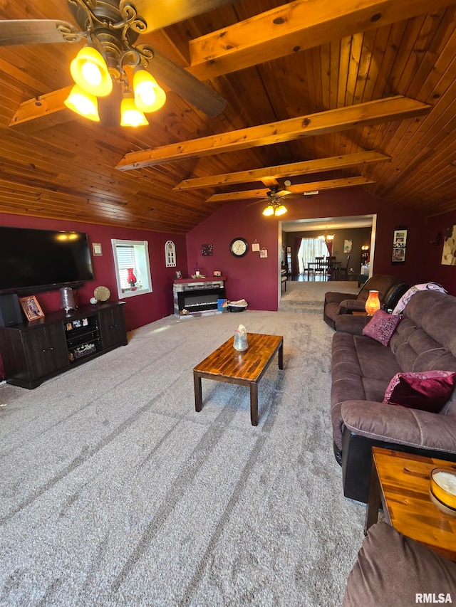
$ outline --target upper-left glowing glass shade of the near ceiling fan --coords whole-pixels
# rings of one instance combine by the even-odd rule
[[[108,66],[96,48],[81,48],[71,61],[70,71],[76,84],[90,95],[105,97],[113,90],[113,79]]]

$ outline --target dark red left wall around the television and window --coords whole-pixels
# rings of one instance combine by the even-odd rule
[[[91,243],[101,244],[103,255],[101,257],[92,256],[93,275],[95,280],[86,283],[86,285],[75,291],[76,305],[88,303],[90,297],[93,297],[93,290],[98,285],[108,287],[111,292],[110,299],[118,300],[111,238],[147,241],[150,256],[152,293],[145,293],[144,295],[128,297],[125,299],[125,322],[127,330],[130,331],[131,329],[142,327],[143,324],[153,322],[154,320],[158,320],[159,318],[173,313],[172,281],[175,278],[176,268],[165,267],[165,243],[168,240],[175,243],[177,264],[186,267],[187,251],[185,236],[133,230],[131,228],[97,226],[92,223],[8,215],[3,213],[0,214],[0,221],[2,226],[86,232],[90,245]],[[59,291],[37,293],[36,298],[45,315],[46,312],[59,310],[61,307]]]

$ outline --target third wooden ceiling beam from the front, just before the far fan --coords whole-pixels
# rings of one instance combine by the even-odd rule
[[[249,171],[184,179],[173,189],[201,189],[214,186],[227,186],[229,184],[248,184],[251,181],[262,181],[264,183],[266,179],[270,179],[271,183],[264,183],[265,186],[268,186],[277,183],[277,179],[283,179],[284,177],[323,173],[324,171],[354,167],[357,164],[385,162],[386,160],[391,160],[391,157],[380,154],[380,152],[358,152],[356,154],[333,156],[331,158],[318,158],[316,160],[292,162],[291,164],[279,164],[276,167],[265,167],[264,169],[251,169]]]

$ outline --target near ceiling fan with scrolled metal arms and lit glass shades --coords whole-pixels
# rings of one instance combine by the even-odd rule
[[[95,109],[100,110],[99,117],[97,114],[93,117],[89,112],[86,117],[100,120],[105,126],[122,124],[120,106],[124,99],[133,100],[141,112],[159,109],[157,103],[161,107],[165,93],[155,78],[209,117],[214,117],[226,106],[223,97],[149,44],[135,43],[142,33],[189,19],[232,1],[67,0],[78,27],[68,21],[51,19],[3,20],[0,21],[0,46],[75,43],[86,39],[86,46],[71,62],[71,75],[78,88],[76,93],[86,94],[87,99],[95,103]],[[98,88],[93,88],[90,78],[99,85]],[[140,80],[142,95],[137,95]],[[93,90],[98,93],[93,93]],[[69,100],[70,97],[66,105],[71,107]],[[154,109],[150,109],[152,107]]]

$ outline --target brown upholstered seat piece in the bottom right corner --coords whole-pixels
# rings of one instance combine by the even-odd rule
[[[440,602],[450,594],[454,603],[456,563],[385,522],[374,524],[348,575],[343,607],[412,606],[428,602],[423,594],[443,596]]]

